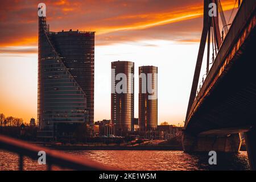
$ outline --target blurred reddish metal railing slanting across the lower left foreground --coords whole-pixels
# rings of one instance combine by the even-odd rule
[[[73,170],[110,170],[102,164],[93,162],[90,159],[80,159],[77,156],[64,154],[63,152],[49,150],[45,147],[35,146],[22,140],[13,139],[0,135],[0,149],[14,152],[19,155],[19,170],[23,170],[24,156],[28,156],[31,159],[38,160],[38,152],[46,152],[46,165],[47,169],[51,170],[52,166],[59,166],[61,168],[68,168]],[[111,168],[111,170],[115,170]]]

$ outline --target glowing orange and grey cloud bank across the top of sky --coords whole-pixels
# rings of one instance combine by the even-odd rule
[[[6,10],[0,11],[0,17],[4,18],[0,24],[0,28],[3,31],[0,35],[0,46],[36,45],[38,21],[36,15],[31,16],[31,14],[34,13],[39,1],[31,1],[30,3],[15,2],[5,2]],[[222,0],[221,2],[224,11],[231,10],[234,7],[234,2],[231,0]],[[111,39],[108,34],[112,34],[112,36],[117,33],[132,34],[131,32],[134,31],[165,27],[167,24],[182,23],[203,15],[203,3],[201,0],[163,0],[161,2],[151,0],[138,2],[60,0],[52,2],[46,0],[45,3],[47,5],[47,22],[51,24],[52,31],[69,30],[70,28],[92,30],[97,33],[96,37],[98,38],[96,39],[101,41],[106,37]],[[193,24],[184,23],[182,26],[183,31],[195,30],[197,33],[200,32],[200,30],[194,28],[195,25]],[[173,26],[171,28],[177,29]],[[175,35],[183,35],[181,28],[179,28],[179,31]],[[158,28],[155,34],[166,34],[166,31],[163,28]],[[101,36],[105,38],[101,38]],[[147,36],[151,35],[147,35],[147,32],[144,32],[145,39],[147,39]],[[115,36],[115,38],[118,37],[120,39],[117,41],[123,41],[127,38],[124,34]],[[182,39],[177,38],[176,40],[178,39],[182,42]],[[116,40],[112,42],[114,41]]]

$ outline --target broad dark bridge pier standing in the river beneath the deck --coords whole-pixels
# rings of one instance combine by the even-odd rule
[[[240,134],[227,136],[192,136],[184,133],[182,145],[184,152],[232,152],[237,153],[241,147]]]

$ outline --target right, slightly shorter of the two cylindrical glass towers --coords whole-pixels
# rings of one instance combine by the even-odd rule
[[[158,67],[139,67],[139,130],[155,130],[158,126]]]

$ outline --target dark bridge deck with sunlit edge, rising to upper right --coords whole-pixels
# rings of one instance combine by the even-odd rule
[[[185,127],[190,133],[222,128],[238,132],[255,122],[255,8],[256,1],[249,0],[238,10],[189,111]]]

